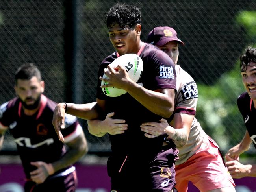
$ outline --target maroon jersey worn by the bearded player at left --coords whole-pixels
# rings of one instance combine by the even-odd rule
[[[52,163],[60,159],[66,152],[65,145],[59,141],[52,125],[52,116],[56,103],[41,96],[40,108],[32,116],[24,114],[19,98],[14,98],[0,107],[0,129],[7,129],[13,135],[22,161],[26,177],[35,166],[33,161]],[[82,130],[76,117],[65,115],[65,129],[62,133],[65,142],[75,138]],[[59,170],[54,175],[63,171]]]

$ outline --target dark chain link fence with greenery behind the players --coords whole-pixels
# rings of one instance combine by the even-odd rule
[[[114,51],[104,14],[117,1],[1,0],[0,103],[15,96],[14,73],[23,63],[39,66],[45,95],[56,102],[88,103],[96,99],[100,62]],[[222,151],[236,145],[245,126],[236,107],[244,91],[238,58],[256,43],[256,2],[252,0],[174,0],[119,2],[142,11],[142,41],[156,26],[171,26],[185,42],[178,64],[198,84],[197,119]],[[252,28],[241,22],[252,13]],[[253,14],[254,13],[254,14]],[[91,153],[109,152],[108,136],[89,134],[80,120]],[[9,141],[9,142],[8,142]],[[15,151],[7,133],[2,151]]]

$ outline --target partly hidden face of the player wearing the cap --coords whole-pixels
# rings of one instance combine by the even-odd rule
[[[166,44],[157,47],[160,48],[163,52],[167,53],[175,65],[177,64],[179,58],[179,48],[176,41],[169,41]]]

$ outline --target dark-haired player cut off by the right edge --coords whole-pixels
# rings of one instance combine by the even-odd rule
[[[242,141],[226,153],[226,165],[233,178],[256,177],[256,164],[243,165],[239,155],[249,150],[253,142],[256,148],[256,48],[249,47],[240,56],[240,69],[246,92],[237,99],[237,106],[245,122],[245,136]]]

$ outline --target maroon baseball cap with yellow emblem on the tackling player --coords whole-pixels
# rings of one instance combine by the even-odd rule
[[[171,27],[155,27],[150,33],[148,33],[147,42],[153,45],[162,46],[169,41],[178,41],[178,43],[184,45],[177,37],[177,32]]]

